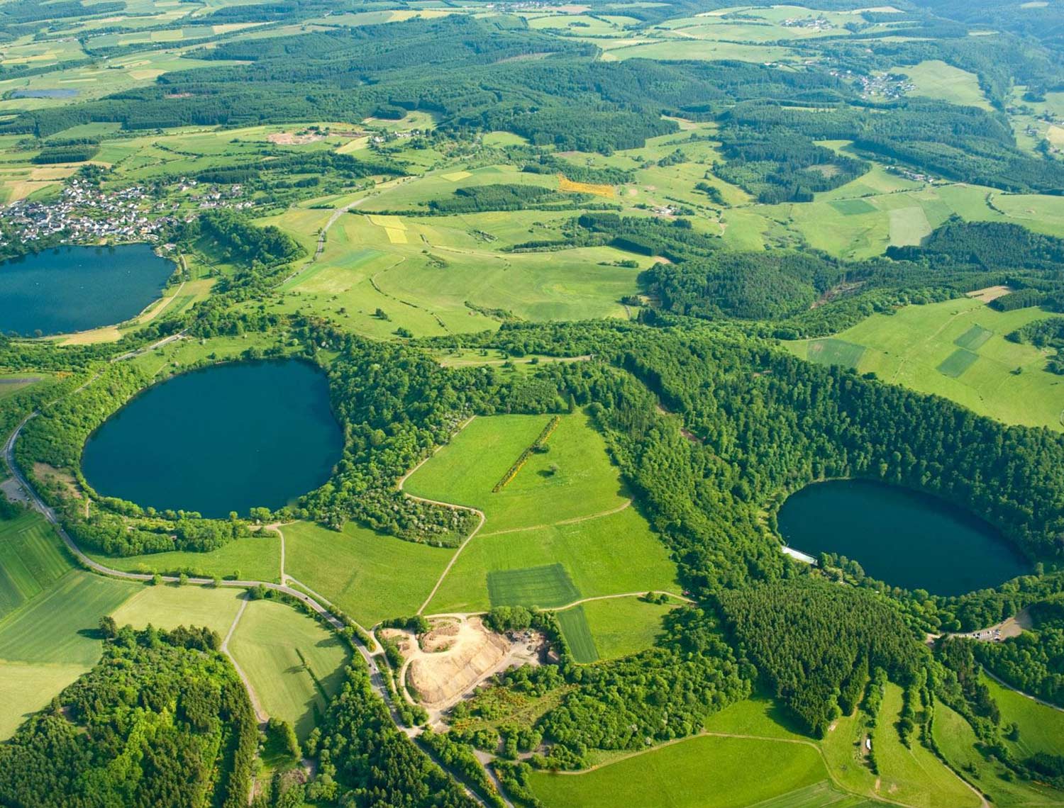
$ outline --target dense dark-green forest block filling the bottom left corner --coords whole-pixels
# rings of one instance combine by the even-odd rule
[[[96,667],[0,744],[0,803],[247,805],[259,731],[220,638],[106,620],[100,632]]]

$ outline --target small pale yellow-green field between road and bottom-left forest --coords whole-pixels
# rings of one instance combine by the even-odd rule
[[[225,639],[240,608],[243,589],[163,584],[142,586],[112,615],[118,625],[144,628],[149,623],[171,630],[179,625],[204,626]]]

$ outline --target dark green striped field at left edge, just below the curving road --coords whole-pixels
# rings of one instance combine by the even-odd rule
[[[44,592],[71,568],[59,536],[26,511],[0,521],[0,618]]]

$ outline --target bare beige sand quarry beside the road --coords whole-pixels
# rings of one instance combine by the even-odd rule
[[[536,632],[501,635],[479,617],[444,616],[431,619],[432,629],[420,638],[388,629],[399,640],[404,663],[400,681],[413,689],[421,706],[446,710],[500,671],[538,664],[545,638]]]

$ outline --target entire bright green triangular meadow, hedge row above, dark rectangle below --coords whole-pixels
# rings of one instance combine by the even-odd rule
[[[443,578],[429,613],[563,606],[600,594],[676,589],[664,548],[628,507],[602,438],[583,415],[562,416],[548,451],[532,453],[493,492],[549,421],[473,419],[406,481],[409,493],[480,508],[486,517]],[[616,552],[618,541],[624,553]]]

